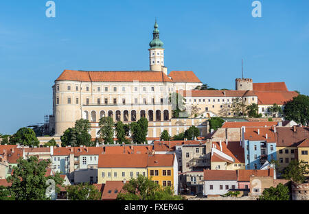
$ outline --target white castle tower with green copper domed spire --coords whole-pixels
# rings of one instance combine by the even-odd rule
[[[157,20],[155,21],[155,29],[153,30],[153,39],[149,43],[149,64],[150,71],[163,71],[167,73],[166,67],[164,67],[164,49],[163,43],[159,38],[159,29]]]

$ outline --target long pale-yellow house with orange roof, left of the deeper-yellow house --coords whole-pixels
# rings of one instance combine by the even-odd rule
[[[106,180],[128,181],[147,175],[148,154],[100,154],[98,184]]]

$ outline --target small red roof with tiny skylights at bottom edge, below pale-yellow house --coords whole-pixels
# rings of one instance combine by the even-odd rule
[[[124,182],[115,180],[106,180],[102,192],[102,200],[116,200],[117,195],[123,191]]]

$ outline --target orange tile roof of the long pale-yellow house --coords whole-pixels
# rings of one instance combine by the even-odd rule
[[[148,154],[100,154],[98,168],[146,168]]]

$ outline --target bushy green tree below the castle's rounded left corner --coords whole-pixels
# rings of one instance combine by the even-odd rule
[[[80,145],[91,146],[93,143],[91,142],[91,134],[89,134],[90,129],[91,125],[88,119],[78,119],[75,122],[75,126],[65,130],[60,137],[61,145],[71,145],[72,147]]]

